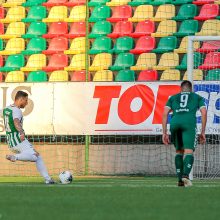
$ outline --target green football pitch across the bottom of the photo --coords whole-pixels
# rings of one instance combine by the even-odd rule
[[[0,178],[0,220],[216,220],[220,180],[176,178],[75,178],[45,185],[38,178]]]

